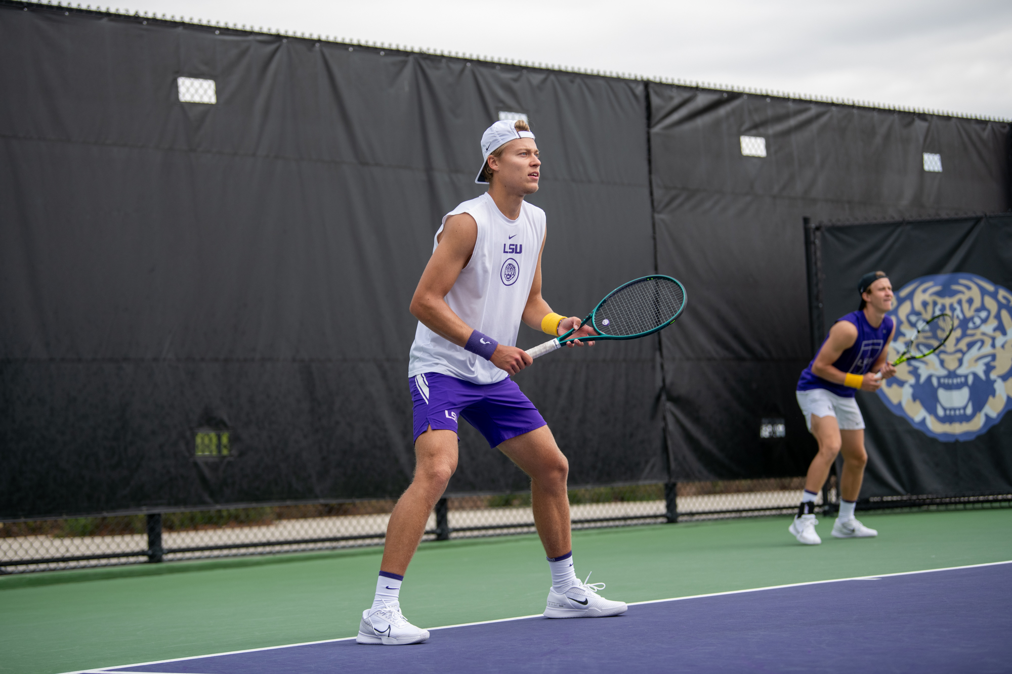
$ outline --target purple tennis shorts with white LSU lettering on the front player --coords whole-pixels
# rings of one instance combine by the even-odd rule
[[[410,377],[408,387],[415,404],[416,440],[430,426],[455,433],[457,417],[477,428],[493,447],[545,425],[534,404],[508,376],[482,385],[425,372]]]

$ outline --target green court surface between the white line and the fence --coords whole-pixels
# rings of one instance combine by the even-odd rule
[[[577,531],[581,578],[644,601],[1012,560],[1012,509],[861,514],[877,538],[823,544],[789,517]],[[67,672],[353,636],[381,551],[361,549],[0,578],[0,672]],[[534,535],[424,543],[401,592],[436,626],[539,613],[551,583]],[[634,607],[635,608],[635,607]],[[832,607],[813,606],[814,610]],[[630,609],[631,610],[631,609]]]

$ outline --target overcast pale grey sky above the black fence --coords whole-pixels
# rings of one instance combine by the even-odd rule
[[[1010,0],[130,0],[131,11],[1012,117]]]

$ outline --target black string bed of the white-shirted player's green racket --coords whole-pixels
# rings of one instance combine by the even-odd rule
[[[681,286],[667,278],[646,278],[605,298],[594,313],[594,329],[627,337],[666,325],[684,303]]]

